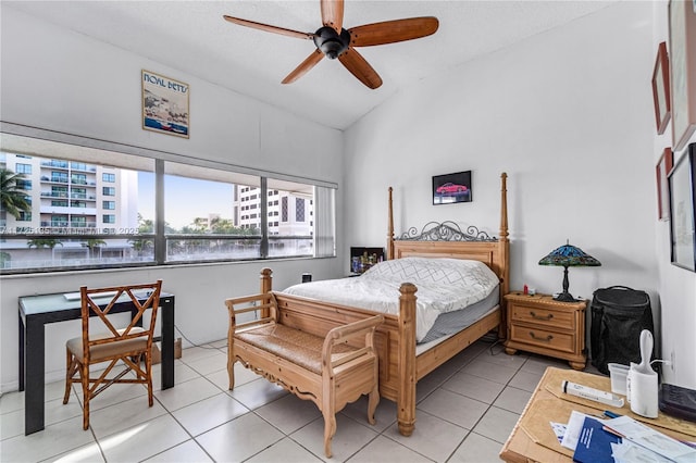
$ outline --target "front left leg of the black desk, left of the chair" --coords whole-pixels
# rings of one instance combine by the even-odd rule
[[[29,435],[44,429],[46,341],[42,323],[33,322],[27,317],[25,325],[24,434]]]

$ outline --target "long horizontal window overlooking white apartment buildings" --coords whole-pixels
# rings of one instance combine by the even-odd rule
[[[3,273],[335,255],[331,184],[234,172],[209,161],[184,164],[134,147],[126,148],[136,153],[126,154],[4,133],[0,143],[8,165],[24,164],[30,172],[24,185],[40,189],[32,211],[5,221],[0,252],[12,259],[0,263]],[[30,164],[16,161],[22,149],[33,154]],[[55,159],[58,152],[70,159]],[[111,165],[102,165],[104,160]],[[324,228],[319,220],[288,222],[312,216],[316,204]],[[86,239],[103,241],[101,259],[85,258]]]

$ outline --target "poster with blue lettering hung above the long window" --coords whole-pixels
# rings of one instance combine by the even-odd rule
[[[142,70],[142,128],[188,138],[188,84]]]

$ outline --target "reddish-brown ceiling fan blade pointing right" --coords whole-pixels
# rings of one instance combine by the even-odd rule
[[[435,34],[438,26],[437,17],[423,16],[365,24],[348,32],[352,47],[372,47],[426,37]]]

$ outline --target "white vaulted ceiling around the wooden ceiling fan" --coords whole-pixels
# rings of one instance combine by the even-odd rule
[[[421,79],[606,8],[609,1],[365,1],[346,0],[344,27],[414,16],[436,16],[432,36],[359,52],[383,79],[369,89],[338,60],[323,59],[297,82],[281,80],[315,46],[231,24],[223,15],[298,32],[321,27],[311,1],[2,1],[173,70],[248,95],[330,127],[345,129]],[[162,70],[152,68],[153,72]],[[169,72],[186,82],[185,76]],[[462,83],[465,85],[465,83]],[[196,98],[191,86],[191,98]]]

